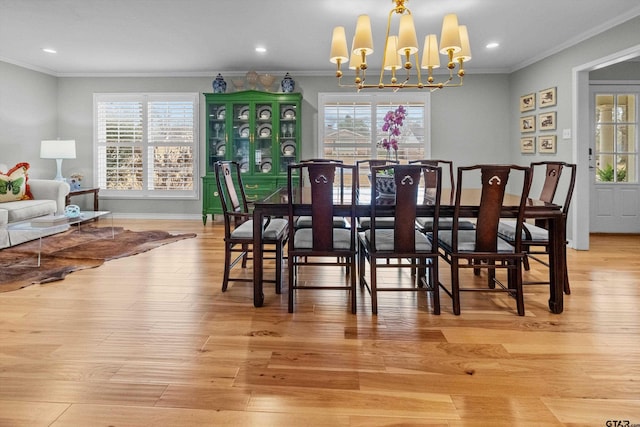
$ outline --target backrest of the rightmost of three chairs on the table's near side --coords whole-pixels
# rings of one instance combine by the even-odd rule
[[[476,222],[476,252],[496,252],[498,250],[498,223],[502,207],[504,204],[504,196],[506,193],[509,177],[514,174],[520,174],[522,186],[512,186],[516,188],[513,194],[519,196],[519,202],[516,210],[516,252],[521,251],[522,243],[522,222],[524,221],[524,208],[527,197],[529,197],[529,188],[531,186],[531,168],[529,166],[518,165],[474,165],[466,167],[458,167],[458,188],[456,190],[456,200],[453,217],[453,249],[458,250],[458,220],[460,218],[461,206],[463,203],[463,177],[480,172],[481,194],[480,201],[477,205],[478,216]],[[465,180],[466,183],[467,180]],[[477,187],[471,185],[470,187]]]

